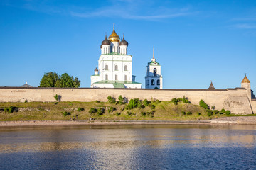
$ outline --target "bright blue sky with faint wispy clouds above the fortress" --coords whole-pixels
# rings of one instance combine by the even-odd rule
[[[164,89],[240,87],[247,73],[256,91],[255,0],[1,0],[0,86],[38,86],[53,71],[89,87],[113,23],[143,87],[154,46]]]

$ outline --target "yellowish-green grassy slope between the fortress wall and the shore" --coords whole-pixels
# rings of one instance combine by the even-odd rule
[[[125,110],[125,104],[110,104],[107,102],[60,102],[60,103],[0,103],[0,120],[88,120],[90,118],[90,108],[105,108],[103,115],[93,114],[92,118],[96,119],[109,119],[109,120],[207,120],[209,118],[224,117],[225,115],[213,115],[208,117],[206,111],[200,106],[196,106],[189,103],[178,103],[174,105],[169,101],[153,102],[156,108],[151,109],[150,106],[145,108],[134,108],[131,110]],[[13,113],[4,112],[4,108],[14,106],[18,108],[18,111]],[[110,107],[116,108],[115,111],[109,113],[107,111]],[[84,108],[84,111],[77,111],[78,108]],[[70,112],[70,115],[63,116],[63,112]],[[127,111],[134,113],[132,116],[127,115]],[[142,116],[142,112],[154,112],[154,117]],[[190,111],[192,115],[182,115],[181,111]],[[116,113],[121,113],[116,115]],[[201,113],[198,115],[197,113]]]

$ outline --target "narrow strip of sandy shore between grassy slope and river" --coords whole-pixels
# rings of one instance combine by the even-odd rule
[[[256,116],[228,117],[214,120],[36,120],[36,121],[6,121],[0,122],[0,127],[36,126],[36,125],[146,125],[146,124],[251,124],[256,125]]]

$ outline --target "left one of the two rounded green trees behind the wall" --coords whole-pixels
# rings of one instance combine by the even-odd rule
[[[48,72],[43,75],[39,87],[56,87],[59,75],[55,72]]]

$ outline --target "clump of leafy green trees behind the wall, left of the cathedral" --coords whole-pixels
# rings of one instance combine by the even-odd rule
[[[73,76],[68,73],[59,75],[56,72],[45,73],[40,81],[39,87],[80,87],[80,80],[78,77],[73,78]]]

